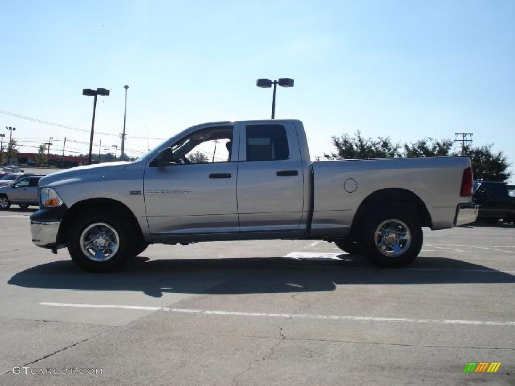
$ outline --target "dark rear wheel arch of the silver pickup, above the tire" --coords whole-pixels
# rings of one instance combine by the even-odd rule
[[[420,224],[422,226],[433,227],[431,215],[424,201],[413,191],[402,188],[380,189],[369,194],[359,204],[356,213],[352,219],[351,235],[353,236],[359,226],[359,222],[363,219],[366,210],[372,206],[378,205],[412,205],[417,212]]]

